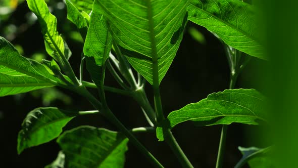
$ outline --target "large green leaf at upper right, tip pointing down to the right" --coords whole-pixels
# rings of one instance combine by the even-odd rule
[[[216,33],[227,45],[265,59],[253,6],[235,0],[190,0],[187,11],[188,20]]]

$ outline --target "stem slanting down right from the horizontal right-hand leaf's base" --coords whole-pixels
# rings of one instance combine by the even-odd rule
[[[170,129],[164,129],[164,130],[165,130],[164,131],[165,141],[168,143],[168,145],[172,149],[173,153],[178,158],[178,161],[180,162],[182,167],[185,167],[185,168],[193,167],[191,165],[190,161],[188,160],[188,158],[186,157],[186,155],[184,154],[184,152],[182,151],[182,149],[180,148],[180,146],[179,146],[178,142],[176,141],[175,137],[173,136],[171,130]]]

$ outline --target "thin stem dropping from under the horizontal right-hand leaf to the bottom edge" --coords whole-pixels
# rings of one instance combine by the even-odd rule
[[[228,130],[228,125],[222,125],[217,160],[216,160],[216,168],[221,168],[223,165],[227,130]]]

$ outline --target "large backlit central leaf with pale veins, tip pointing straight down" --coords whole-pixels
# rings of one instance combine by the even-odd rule
[[[109,20],[114,40],[133,68],[151,85],[153,72],[158,71],[161,82],[182,40],[188,0],[96,2]]]

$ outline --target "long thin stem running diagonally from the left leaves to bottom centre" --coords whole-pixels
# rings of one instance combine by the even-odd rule
[[[96,110],[102,111],[105,115],[129,140],[134,146],[149,160],[155,167],[163,167],[163,165],[131,134],[129,130],[118,120],[118,118],[112,113],[105,103],[102,105],[97,99],[91,95],[86,88],[76,87],[73,88],[75,92],[84,96],[94,106]]]

